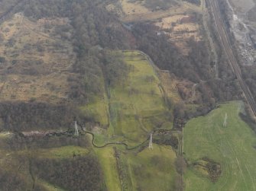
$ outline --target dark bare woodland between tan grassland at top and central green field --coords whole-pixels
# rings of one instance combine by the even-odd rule
[[[151,24],[136,24],[133,31],[140,40],[138,48],[151,56],[160,68],[170,70],[177,77],[193,82],[212,78],[209,56],[203,42],[189,40],[190,46],[196,48],[191,49],[189,56],[183,56],[177,47],[170,43],[167,35],[157,35],[157,27]]]

